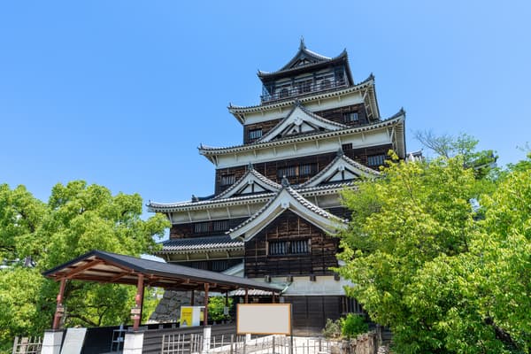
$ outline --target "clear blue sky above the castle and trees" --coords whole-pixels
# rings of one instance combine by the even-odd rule
[[[504,165],[531,141],[529,1],[4,1],[0,183],[47,200],[58,182],[175,202],[213,191],[203,142],[242,142],[227,104],[257,104],[257,70],[347,48],[381,115],[464,132]]]

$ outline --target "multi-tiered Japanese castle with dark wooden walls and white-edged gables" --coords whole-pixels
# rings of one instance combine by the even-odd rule
[[[327,319],[363,312],[345,296],[350,282],[331,270],[341,266],[335,234],[350,218],[340,194],[377,177],[389,150],[405,158],[405,112],[382,118],[373,74],[356,82],[346,50],[328,58],[304,40],[286,65],[259,71],[258,79],[259,104],[228,107],[242,124],[242,144],[199,147],[215,168],[213,195],[148,204],[172,223],[156,255],[278,284],[277,301],[292,304],[293,326],[322,328]],[[272,301],[263,290],[245,296]]]

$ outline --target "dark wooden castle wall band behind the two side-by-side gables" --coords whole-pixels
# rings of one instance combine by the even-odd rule
[[[362,148],[362,149],[352,149],[351,145],[350,146],[347,146],[347,145],[349,144],[345,144],[345,146],[343,146],[343,151],[345,155],[348,156],[349,158],[354,159],[355,161],[357,161],[358,163],[362,165],[367,164],[368,156],[381,155],[381,154],[384,154],[387,156],[388,151],[392,149],[391,144]],[[281,177],[277,175],[277,171],[279,170],[279,168],[289,167],[292,165],[316,164],[317,166],[316,173],[313,173],[312,175],[289,177],[289,183],[297,184],[297,183],[303,183],[304,181],[308,181],[310,178],[313,177],[313,175],[319,173],[319,171],[321,171],[327,165],[329,165],[336,156],[337,156],[336,152],[330,152],[326,154],[319,154],[319,155],[313,155],[313,156],[302,157],[302,158],[288,158],[288,159],[283,159],[283,160],[278,160],[278,161],[262,162],[258,164],[253,164],[253,167],[255,168],[255,170],[258,171],[258,173],[262,173],[270,180],[280,183]],[[378,166],[373,166],[373,168],[378,169]],[[230,185],[227,185],[227,186],[221,185],[221,177],[223,175],[234,174],[235,181],[238,181],[238,179],[240,179],[242,175],[245,174],[246,171],[247,171],[247,165],[240,165],[236,167],[227,167],[227,168],[217,169],[216,170],[216,181],[215,181],[215,193],[219,194],[222,191],[230,187]]]

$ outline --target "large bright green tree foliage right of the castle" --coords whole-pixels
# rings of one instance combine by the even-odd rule
[[[344,193],[338,271],[397,352],[530,348],[531,171],[486,181],[464,162],[394,162]]]

